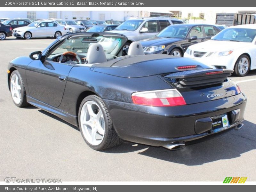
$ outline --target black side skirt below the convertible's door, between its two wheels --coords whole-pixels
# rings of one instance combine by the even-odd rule
[[[57,117],[60,117],[61,119],[63,119],[64,121],[72,124],[72,125],[75,125],[78,127],[78,124],[77,124],[77,116],[73,116],[73,115],[70,115],[68,114],[67,112],[65,111],[62,111],[58,108],[54,108],[52,107],[51,105],[48,105],[42,101],[39,101],[39,100],[36,100],[35,98],[33,97],[29,97],[27,96],[27,102],[37,108],[41,108],[43,109],[44,111],[47,111]]]

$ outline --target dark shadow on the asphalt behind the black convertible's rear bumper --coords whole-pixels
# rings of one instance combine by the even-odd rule
[[[140,155],[188,166],[201,165],[221,159],[232,159],[256,149],[256,124],[244,121],[240,130],[230,129],[202,139],[187,142],[181,150],[171,151],[163,147],[151,147],[125,142],[116,148],[103,150],[106,153],[138,152]]]

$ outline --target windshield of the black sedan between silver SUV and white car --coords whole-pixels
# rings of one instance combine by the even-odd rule
[[[157,37],[185,38],[189,29],[187,26],[169,26],[158,33]]]

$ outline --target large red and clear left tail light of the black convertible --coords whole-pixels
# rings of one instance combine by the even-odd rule
[[[155,107],[186,105],[186,101],[176,89],[135,92],[132,93],[132,102]]]

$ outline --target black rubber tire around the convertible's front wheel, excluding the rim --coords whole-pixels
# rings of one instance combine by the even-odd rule
[[[19,78],[20,87],[21,87],[21,91],[20,91],[20,93],[21,93],[21,98],[20,98],[20,102],[19,102],[19,103],[14,102],[13,98],[12,98],[12,101],[13,101],[13,103],[14,103],[17,107],[26,107],[26,106],[29,105],[28,102],[27,102],[27,94],[26,94],[26,90],[25,90],[25,87],[24,87],[23,80],[22,80],[22,78],[21,78],[21,76],[20,76],[19,71],[17,71],[17,70],[12,71],[12,74],[11,74],[10,79],[9,79],[11,96],[12,96],[12,91],[11,91],[11,79],[12,79],[12,76],[13,76],[13,75],[18,76],[18,78]]]

